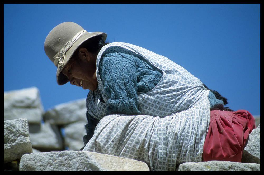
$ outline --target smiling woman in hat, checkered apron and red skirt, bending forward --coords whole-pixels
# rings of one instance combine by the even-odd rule
[[[56,26],[44,49],[57,82],[89,89],[83,150],[143,161],[152,171],[176,164],[241,162],[255,128],[245,110],[168,58],[128,43],[105,43],[73,22]]]

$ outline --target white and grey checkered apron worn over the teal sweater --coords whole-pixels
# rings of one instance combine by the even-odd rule
[[[102,54],[117,47],[143,56],[162,70],[162,79],[154,89],[138,94],[139,111],[144,115],[105,116],[107,105],[102,101],[107,97],[97,69],[99,88],[89,92],[87,109],[101,121],[83,150],[143,161],[152,171],[174,171],[178,163],[202,161],[210,121],[209,91],[166,57],[127,43],[104,46],[97,57],[97,68]]]

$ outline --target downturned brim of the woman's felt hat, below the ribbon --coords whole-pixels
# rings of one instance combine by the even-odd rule
[[[72,47],[69,48],[69,50],[65,54],[65,60],[64,60],[64,65],[60,66],[58,65],[57,67],[57,72],[56,72],[56,78],[57,78],[57,83],[58,85],[64,85],[67,82],[69,82],[69,79],[67,76],[61,73],[65,65],[68,63],[70,58],[72,57],[73,53],[77,50],[77,48],[84,42],[89,40],[92,37],[99,36],[101,35],[101,38],[103,41],[106,40],[107,34],[102,33],[102,32],[93,32],[93,33],[84,33],[81,37],[78,38],[76,42],[73,43]]]

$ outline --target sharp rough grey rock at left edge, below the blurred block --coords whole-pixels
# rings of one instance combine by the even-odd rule
[[[32,153],[26,118],[4,121],[4,163]]]

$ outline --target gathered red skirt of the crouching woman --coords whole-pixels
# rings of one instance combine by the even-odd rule
[[[246,110],[211,110],[203,161],[241,162],[245,142],[255,128],[255,119]]]

